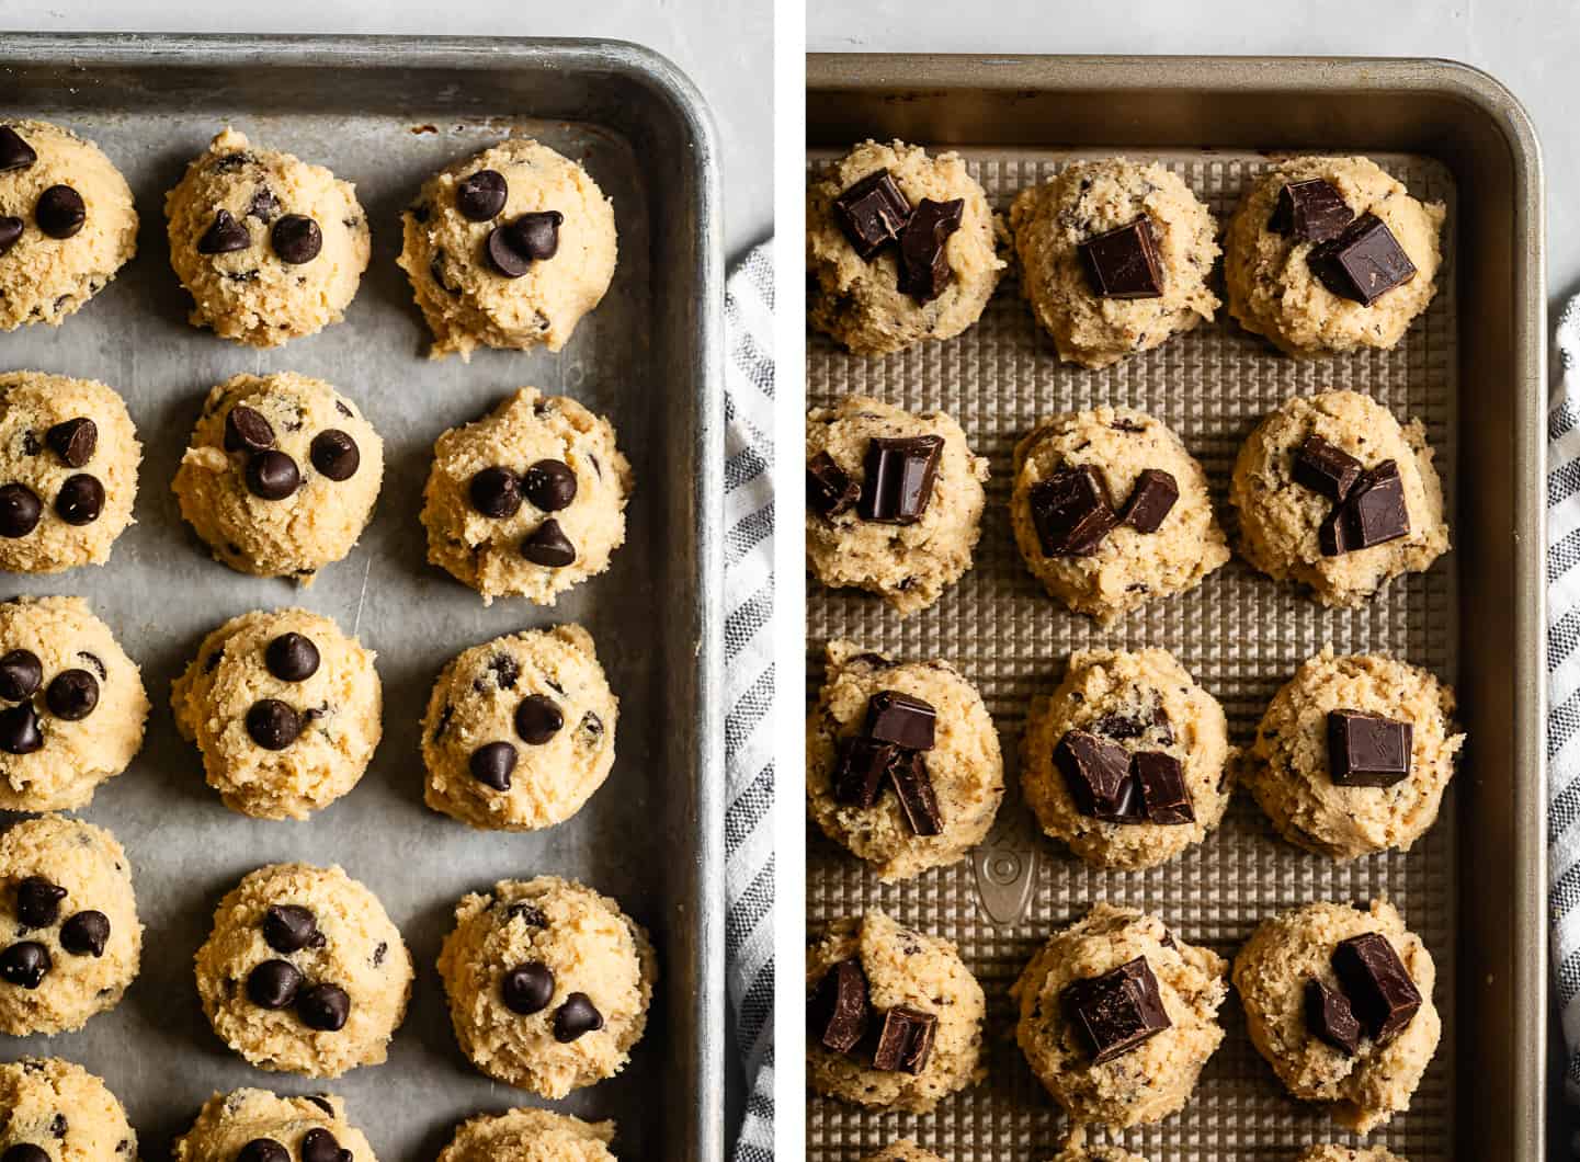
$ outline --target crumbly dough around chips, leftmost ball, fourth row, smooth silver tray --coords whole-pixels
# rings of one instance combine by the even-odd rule
[[[33,928],[17,916],[17,886],[28,876],[66,889],[55,924]],[[60,944],[62,924],[90,909],[109,920],[104,952],[68,952]],[[43,944],[51,961],[38,988],[0,984],[0,1031],[21,1037],[81,1029],[88,1017],[120,1004],[137,976],[142,925],[131,865],[115,837],[60,815],[22,819],[0,835],[0,931]]]

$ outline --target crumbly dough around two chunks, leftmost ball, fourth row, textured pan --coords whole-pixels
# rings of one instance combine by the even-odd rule
[[[920,1074],[890,1074],[809,1037],[806,1077],[812,1089],[874,1108],[932,1113],[950,1094],[988,1077],[983,1061],[986,999],[954,944],[901,927],[877,909],[834,920],[807,946],[807,995],[828,969],[852,958],[861,961],[867,999],[875,1010],[905,1006],[939,1018],[932,1053]]]

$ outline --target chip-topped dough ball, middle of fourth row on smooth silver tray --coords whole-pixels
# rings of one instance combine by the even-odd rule
[[[340,1077],[382,1063],[411,980],[411,954],[384,905],[338,867],[250,872],[198,949],[198,996],[213,1031],[272,1072]]]

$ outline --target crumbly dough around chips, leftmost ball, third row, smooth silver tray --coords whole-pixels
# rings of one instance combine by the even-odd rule
[[[32,650],[43,666],[30,701],[44,745],[32,755],[0,755],[0,810],[85,807],[93,789],[125,770],[142,747],[149,718],[142,673],[81,597],[0,603],[0,654],[14,649]],[[76,722],[55,717],[44,699],[49,684],[66,669],[85,669],[98,680],[98,704]]]

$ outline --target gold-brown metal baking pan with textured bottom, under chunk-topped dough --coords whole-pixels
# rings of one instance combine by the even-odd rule
[[[874,362],[809,339],[812,404],[861,392],[948,410],[992,466],[976,565],[937,606],[901,622],[869,597],[812,586],[809,688],[822,680],[822,644],[836,636],[951,658],[994,714],[1011,786],[970,860],[907,884],[883,887],[834,845],[811,840],[811,924],[878,906],[959,943],[989,998],[989,1080],[924,1118],[809,1097],[809,1156],[853,1159],[897,1134],[946,1157],[1052,1153],[1063,1119],[1014,1045],[1008,987],[1048,933],[1095,900],[1157,911],[1232,957],[1270,913],[1387,894],[1438,961],[1444,1037],[1411,1110],[1370,1141],[1417,1160],[1539,1157],[1545,827],[1534,433],[1545,376],[1540,178],[1518,107],[1480,74],[1414,62],[826,55],[811,58],[807,126],[814,159],[867,136],[956,148],[999,210],[1074,158],[1125,153],[1168,164],[1226,221],[1269,164],[1261,150],[1273,148],[1365,152],[1414,194],[1449,204],[1446,278],[1394,352],[1297,363],[1224,313],[1115,368],[1082,371],[1057,362],[1013,272],[983,320],[954,341]],[[1324,611],[1236,557],[1191,594],[1103,632],[1055,606],[1019,560],[1006,510],[1011,453],[1036,418],[1098,404],[1158,415],[1202,461],[1232,529],[1228,477],[1250,428],[1292,395],[1340,387],[1420,417],[1449,494],[1455,551],[1382,600]],[[1013,793],[1027,703],[1052,690],[1073,649],[1174,650],[1224,704],[1243,744],[1273,690],[1326,643],[1394,652],[1458,688],[1471,742],[1436,827],[1408,856],[1335,865],[1302,854],[1240,794],[1220,830],[1183,859],[1104,873],[1044,840]],[[1191,1104],[1122,1135],[1128,1148],[1150,1159],[1261,1159],[1349,1140],[1326,1111],[1281,1091],[1247,1037],[1237,998],[1220,1015],[1228,1037]]]

